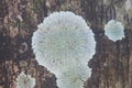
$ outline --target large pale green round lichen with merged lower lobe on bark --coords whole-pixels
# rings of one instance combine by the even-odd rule
[[[87,63],[95,54],[94,33],[73,12],[54,12],[45,18],[33,34],[32,47],[38,64],[56,75],[59,88],[81,88],[90,75]]]

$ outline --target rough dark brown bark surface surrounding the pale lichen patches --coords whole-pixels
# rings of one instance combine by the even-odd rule
[[[127,0],[1,0],[0,88],[15,88],[21,72],[36,78],[35,88],[56,88],[56,78],[40,66],[31,48],[36,25],[53,11],[69,10],[82,15],[95,33],[96,54],[88,63],[91,77],[86,88],[132,88],[132,13]],[[105,35],[105,24],[123,22],[125,37],[118,42]]]

